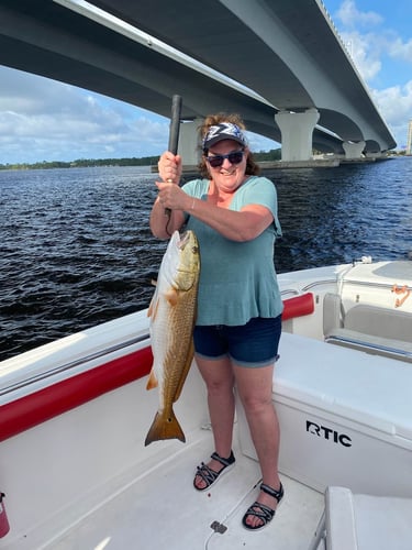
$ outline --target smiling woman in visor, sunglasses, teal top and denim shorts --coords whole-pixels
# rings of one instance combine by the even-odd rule
[[[274,266],[280,234],[274,184],[258,177],[236,114],[215,114],[200,128],[202,179],[178,186],[182,162],[166,152],[151,215],[155,237],[187,224],[201,253],[196,362],[208,389],[215,451],[198,466],[194,488],[208,490],[235,463],[232,452],[236,384],[261,470],[257,501],[243,518],[261,529],[283,496],[278,475],[279,425],[271,402],[282,302]]]

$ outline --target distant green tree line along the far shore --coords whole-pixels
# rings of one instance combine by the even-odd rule
[[[281,150],[254,153],[257,162],[280,161]],[[43,161],[38,163],[0,164],[0,169],[51,169],[51,168],[89,168],[96,166],[153,166],[157,165],[158,156],[142,156],[140,158],[78,158],[77,161]]]

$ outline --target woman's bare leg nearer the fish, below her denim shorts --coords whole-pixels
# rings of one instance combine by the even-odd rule
[[[208,389],[208,405],[215,451],[220,457],[226,459],[232,450],[235,414],[232,364],[229,358],[207,360],[196,356],[196,362]],[[208,462],[208,466],[215,472],[223,468],[220,462],[213,459]],[[196,476],[194,484],[200,490],[207,485],[199,475]]]

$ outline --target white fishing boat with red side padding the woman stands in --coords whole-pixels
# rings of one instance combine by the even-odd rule
[[[330,266],[280,275],[279,282],[286,309],[272,395],[289,504],[287,498],[277,536],[303,550],[326,485],[412,497],[409,356],[385,353],[386,321],[377,323],[383,336],[372,334],[375,346],[367,342],[370,334],[358,331],[364,351],[350,339],[339,345],[325,341],[336,328],[349,330],[347,312],[357,306],[372,308],[374,316],[381,309],[392,317],[401,312],[409,321],[412,297],[397,306],[393,285],[412,288],[412,263]],[[333,315],[331,296],[338,298]],[[403,341],[408,348],[398,337],[404,334],[390,334],[392,345]],[[213,451],[204,384],[193,365],[176,404],[187,443],[171,440],[145,448],[157,407],[156,393],[145,389],[151,364],[146,311],[0,364],[0,491],[7,495],[10,522],[0,549],[112,550],[133,548],[135,537],[157,548],[167,539],[170,549],[192,549],[198,542],[230,549],[250,542],[238,516],[256,496],[259,471],[242,408],[234,441],[237,474],[227,476],[229,491],[200,496],[191,486],[194,468]],[[167,505],[166,494],[181,498],[180,504],[171,498]],[[147,512],[156,502],[162,528]],[[190,503],[190,515],[198,510],[199,525],[192,536],[185,532],[175,540],[170,532],[186,514],[183,502]],[[302,507],[302,502],[311,505]],[[214,532],[212,524],[230,527],[226,536]],[[261,531],[255,543],[269,544],[265,537]]]

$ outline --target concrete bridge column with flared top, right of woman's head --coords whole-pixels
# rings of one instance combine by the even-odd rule
[[[319,120],[316,109],[304,112],[279,111],[275,120],[281,132],[282,161],[312,158],[313,129]]]

